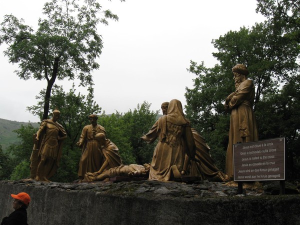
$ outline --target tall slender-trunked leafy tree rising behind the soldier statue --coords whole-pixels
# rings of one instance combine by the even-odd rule
[[[122,0],[121,0],[122,1]],[[34,31],[13,15],[5,15],[0,25],[0,44],[8,44],[4,55],[11,63],[18,63],[16,74],[21,79],[45,79],[42,118],[49,111],[51,89],[56,79],[79,79],[80,85],[91,85],[91,70],[97,69],[96,58],[103,47],[96,28],[108,24],[107,18],[118,20],[110,10],[103,10],[96,0],[51,0],[43,7],[46,18],[38,19]]]

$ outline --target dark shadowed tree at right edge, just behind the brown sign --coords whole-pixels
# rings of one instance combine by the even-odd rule
[[[300,175],[300,76],[293,77],[282,89],[268,93],[263,102],[257,104],[256,118],[261,122],[261,139],[285,136],[288,177]],[[274,122],[275,121],[275,122]]]

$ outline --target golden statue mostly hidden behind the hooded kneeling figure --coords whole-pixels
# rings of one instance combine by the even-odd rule
[[[167,114],[169,102],[161,104],[161,110],[164,115]],[[208,179],[210,181],[227,181],[226,175],[221,172],[214,164],[214,160],[209,154],[210,147],[205,143],[203,137],[194,129],[191,128],[193,138],[195,141],[195,159],[185,155],[182,175],[198,176],[201,179]]]

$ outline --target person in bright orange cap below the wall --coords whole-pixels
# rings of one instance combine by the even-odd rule
[[[14,211],[10,213],[9,216],[5,216],[2,219],[1,225],[26,225],[27,224],[27,211],[26,208],[30,202],[29,194],[25,192],[20,192],[18,194],[10,194],[13,197],[13,208]]]

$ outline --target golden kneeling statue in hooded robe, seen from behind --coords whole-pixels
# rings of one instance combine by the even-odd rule
[[[154,149],[149,179],[172,180],[177,171],[183,169],[185,153],[194,159],[195,143],[189,121],[184,117],[182,104],[172,99],[167,108],[167,114],[158,118],[149,132],[141,138],[148,143],[158,137]],[[180,174],[180,173],[179,173]]]

